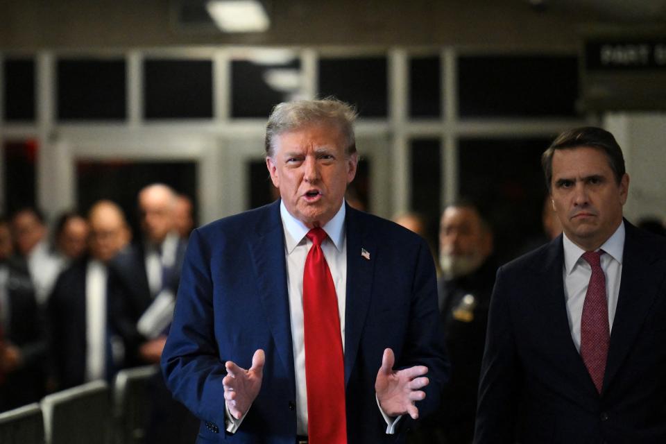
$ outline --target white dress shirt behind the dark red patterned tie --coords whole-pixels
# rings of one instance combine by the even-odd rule
[[[577,350],[581,350],[581,318],[583,316],[583,302],[588,291],[588,283],[592,275],[592,267],[583,259],[585,250],[574,244],[566,234],[563,235],[564,244],[564,295],[567,301],[567,316],[571,337]],[[613,235],[604,242],[599,250],[601,255],[601,269],[606,275],[606,296],[608,298],[608,327],[613,330],[613,319],[617,308],[617,297],[620,295],[620,279],[622,278],[622,253],[624,252],[624,221],[615,230]]]

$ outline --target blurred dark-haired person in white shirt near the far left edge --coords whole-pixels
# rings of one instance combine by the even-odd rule
[[[35,208],[22,208],[12,216],[11,229],[17,253],[35,287],[37,303],[44,306],[60,273],[60,262],[51,254],[44,216]]]

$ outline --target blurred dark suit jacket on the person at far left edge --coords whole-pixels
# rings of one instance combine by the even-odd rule
[[[46,340],[44,317],[37,307],[35,291],[27,270],[7,263],[9,278],[6,291],[9,300],[9,327],[5,341],[19,348],[23,365],[4,375],[0,383],[0,411],[15,409],[44,396]]]

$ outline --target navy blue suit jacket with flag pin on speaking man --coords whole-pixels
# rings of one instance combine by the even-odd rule
[[[422,414],[436,409],[447,379],[432,255],[416,234],[346,211],[348,442],[400,442],[402,436],[385,434],[375,400],[384,348],[395,352],[396,367],[428,366],[427,398],[417,404]],[[296,438],[284,255],[279,201],[191,234],[162,368],[173,395],[203,422],[198,443],[293,444]],[[266,352],[261,391],[238,431],[226,434],[224,362],[249,368],[258,348]]]

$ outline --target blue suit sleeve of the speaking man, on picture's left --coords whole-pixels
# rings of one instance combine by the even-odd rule
[[[173,397],[200,420],[223,427],[226,374],[214,338],[213,288],[208,246],[194,230],[182,266],[176,309],[162,353],[162,371]]]

